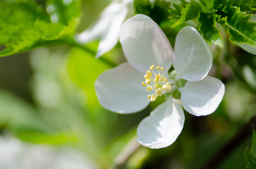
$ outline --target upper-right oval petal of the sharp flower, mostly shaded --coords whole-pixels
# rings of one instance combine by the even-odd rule
[[[173,66],[176,79],[200,81],[208,74],[212,65],[212,51],[201,34],[192,26],[185,26],[177,34]]]

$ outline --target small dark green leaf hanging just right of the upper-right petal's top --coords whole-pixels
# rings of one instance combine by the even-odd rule
[[[223,38],[220,35],[220,30],[216,28],[216,10],[203,13],[199,12],[198,21],[201,23],[199,25],[199,31],[203,34],[203,38],[210,44],[214,44],[220,48],[224,48]]]

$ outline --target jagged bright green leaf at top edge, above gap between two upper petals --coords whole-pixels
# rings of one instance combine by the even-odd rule
[[[180,5],[173,3],[173,7],[175,9],[169,10],[171,14],[169,18],[171,22],[174,23],[172,27],[198,17],[198,12],[207,12],[205,6],[193,0],[190,1],[190,3],[186,2],[185,0],[181,0]]]

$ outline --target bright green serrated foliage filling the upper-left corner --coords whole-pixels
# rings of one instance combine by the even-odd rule
[[[79,1],[49,0],[46,5],[45,9],[34,1],[0,2],[0,44],[5,45],[0,56],[72,41]]]

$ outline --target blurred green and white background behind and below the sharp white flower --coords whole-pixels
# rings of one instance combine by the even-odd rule
[[[92,24],[109,3],[82,1],[76,32]],[[172,46],[185,25],[198,24],[185,23],[175,29],[167,22],[160,24]],[[87,46],[96,51],[97,45]],[[102,108],[94,81],[112,65],[94,59],[92,53],[56,46],[1,57],[0,168],[179,169],[206,168],[211,162],[223,169],[245,168],[244,151],[251,146],[252,136],[251,128],[246,127],[256,115],[256,57],[234,45],[229,51],[215,46],[212,50],[210,75],[225,84],[224,99],[206,117],[185,112],[183,131],[175,143],[163,149],[145,148],[136,141],[138,124],[163,100],[134,114],[120,115]],[[114,65],[125,62],[120,44],[103,58]],[[227,145],[229,149],[223,149]],[[221,162],[214,161],[218,152],[223,154]]]

